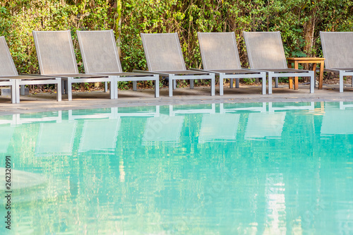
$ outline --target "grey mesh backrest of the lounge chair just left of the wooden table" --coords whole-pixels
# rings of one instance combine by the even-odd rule
[[[288,68],[280,32],[243,32],[250,68]]]

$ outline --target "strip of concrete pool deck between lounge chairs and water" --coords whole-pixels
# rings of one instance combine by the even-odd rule
[[[299,90],[289,90],[288,85],[279,85],[273,89],[272,95],[261,95],[261,86],[240,85],[240,88],[225,87],[225,95],[210,96],[210,88],[195,89],[177,88],[173,97],[168,96],[168,89],[160,89],[160,97],[155,98],[153,89],[119,90],[118,100],[110,100],[109,93],[73,92],[73,100],[68,101],[63,95],[61,102],[56,102],[55,93],[38,93],[23,95],[20,104],[11,104],[10,97],[0,96],[0,116],[9,114],[25,114],[32,112],[49,112],[68,109],[95,109],[109,107],[136,107],[168,104],[212,104],[212,103],[244,103],[244,102],[353,102],[353,88],[345,84],[345,91],[339,92],[339,85],[323,85],[323,90],[315,88],[309,93],[309,85],[299,85]]]

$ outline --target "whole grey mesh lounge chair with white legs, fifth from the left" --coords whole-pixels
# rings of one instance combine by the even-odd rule
[[[239,78],[261,78],[263,94],[266,93],[266,74],[241,68],[237,40],[234,32],[198,32],[203,69],[220,77],[220,95],[223,95],[223,79],[230,78],[233,87],[235,78],[239,88]]]

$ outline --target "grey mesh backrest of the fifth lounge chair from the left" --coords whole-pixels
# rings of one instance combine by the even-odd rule
[[[234,32],[198,32],[203,69],[241,68]]]

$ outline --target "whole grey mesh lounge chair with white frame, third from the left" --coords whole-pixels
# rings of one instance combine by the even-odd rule
[[[113,76],[119,81],[152,80],[155,82],[155,97],[159,97],[159,76],[157,74],[123,73],[113,30],[76,31],[85,73]],[[115,99],[118,97],[117,89]]]

